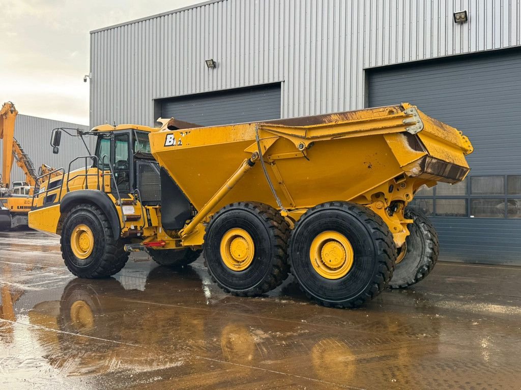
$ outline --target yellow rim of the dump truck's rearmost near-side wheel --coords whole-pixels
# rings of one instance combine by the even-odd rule
[[[326,279],[340,279],[353,266],[354,252],[351,243],[337,231],[324,231],[311,243],[311,264]]]

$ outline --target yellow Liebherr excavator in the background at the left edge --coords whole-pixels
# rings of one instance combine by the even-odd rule
[[[0,176],[0,230],[18,226],[27,226],[27,213],[31,209],[31,200],[36,178],[54,169],[42,164],[37,173],[29,155],[15,138],[15,122],[18,111],[13,102],[4,103],[0,109],[0,139],[2,145],[2,175]],[[16,162],[26,176],[25,181],[11,182],[11,170]],[[5,210],[7,209],[7,210]]]

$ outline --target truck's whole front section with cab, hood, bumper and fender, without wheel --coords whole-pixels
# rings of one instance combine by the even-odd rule
[[[159,166],[148,140],[157,129],[123,124],[101,125],[78,134],[70,130],[53,131],[53,152],[59,152],[61,134],[65,132],[79,136],[87,153],[70,161],[67,167],[38,178],[41,185],[32,198],[29,226],[61,235],[70,214],[79,205],[91,205],[107,218],[110,235],[121,238],[120,244],[131,244],[133,240],[140,243],[146,235],[155,237],[156,232],[164,235],[158,220]],[[95,137],[94,150],[89,150],[84,137]],[[170,245],[178,246],[174,242]]]

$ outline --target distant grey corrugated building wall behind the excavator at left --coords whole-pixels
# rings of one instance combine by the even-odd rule
[[[20,142],[24,151],[34,163],[36,170],[42,164],[47,164],[55,168],[65,167],[69,165],[69,161],[79,155],[88,154],[85,146],[77,137],[69,137],[66,134],[61,136],[60,152],[53,154],[51,141],[51,131],[56,127],[73,127],[88,130],[89,127],[76,123],[61,122],[51,119],[37,118],[36,116],[18,114],[15,122],[15,138]],[[95,144],[94,137],[88,137],[89,147],[93,151]],[[0,141],[0,145],[1,145]],[[0,148],[0,159],[2,158],[2,149]],[[21,168],[13,164],[11,171],[11,183],[16,180],[26,180]],[[78,167],[78,165],[76,165]]]

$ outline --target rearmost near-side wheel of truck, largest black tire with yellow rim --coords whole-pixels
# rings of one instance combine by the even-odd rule
[[[324,306],[351,308],[387,287],[396,246],[388,226],[367,207],[328,202],[297,221],[289,257],[291,272],[309,297]]]

